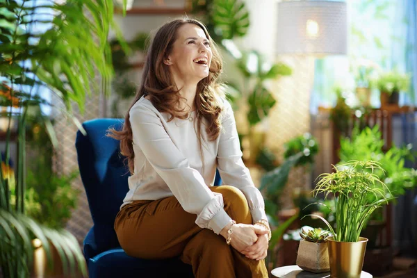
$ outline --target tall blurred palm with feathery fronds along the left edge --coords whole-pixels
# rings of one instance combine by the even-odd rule
[[[46,31],[39,31],[40,25]],[[82,112],[86,95],[98,90],[97,84],[90,83],[96,72],[108,92],[113,74],[107,43],[111,26],[117,30],[112,0],[0,1],[1,117],[8,119],[5,161],[10,159],[12,121],[17,122],[18,145],[15,204],[10,202],[11,179],[0,171],[0,266],[4,277],[28,277],[34,237],[42,241],[49,262],[51,243],[65,272],[74,276],[78,266],[81,275],[86,274],[82,252],[72,234],[44,227],[25,215],[26,124],[29,106],[49,104],[39,97],[40,90],[49,90],[61,99],[68,115],[72,115],[73,104]],[[75,117],[72,119],[81,127]],[[51,121],[48,117],[43,120],[56,144]]]

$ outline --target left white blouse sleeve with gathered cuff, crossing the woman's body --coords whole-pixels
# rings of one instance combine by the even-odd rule
[[[197,214],[195,223],[220,234],[231,221],[224,211],[222,195],[213,193],[202,175],[190,167],[154,111],[138,105],[133,106],[129,115],[133,145],[145,154],[182,208],[188,213]]]

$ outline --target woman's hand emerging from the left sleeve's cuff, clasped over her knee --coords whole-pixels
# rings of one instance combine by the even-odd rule
[[[228,224],[220,232],[226,239],[229,236],[227,231],[230,227],[231,224]],[[259,240],[259,235],[265,235],[268,244],[268,230],[264,227],[251,224],[234,224],[232,231],[230,245],[240,253],[247,249],[247,247],[254,245]]]

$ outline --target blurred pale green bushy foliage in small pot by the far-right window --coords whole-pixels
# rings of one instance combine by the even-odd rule
[[[380,74],[376,86],[380,92],[391,95],[393,92],[408,91],[410,85],[409,74],[400,74],[396,71]]]

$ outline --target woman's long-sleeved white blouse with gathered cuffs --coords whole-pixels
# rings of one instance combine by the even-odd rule
[[[216,167],[224,184],[239,188],[247,199],[252,220],[265,219],[265,204],[242,161],[233,110],[224,99],[222,131],[214,141],[202,140],[203,158],[195,129],[195,112],[187,120],[160,113],[151,101],[141,97],[130,115],[133,132],[134,174],[122,206],[135,200],[155,200],[174,195],[195,223],[220,234],[231,221],[224,211],[223,197],[213,193]],[[204,120],[203,120],[204,121]],[[207,134],[202,123],[203,138]]]

